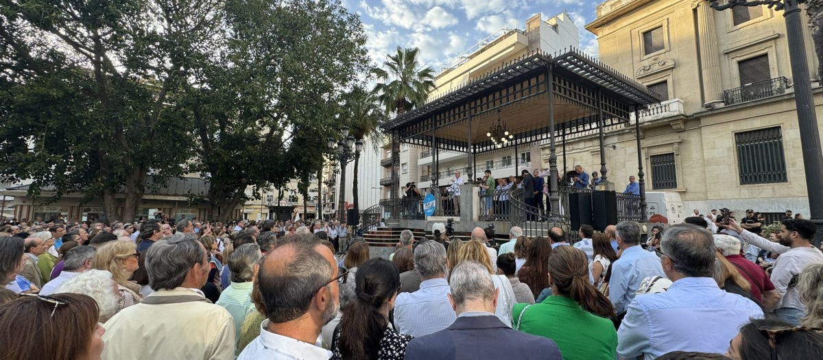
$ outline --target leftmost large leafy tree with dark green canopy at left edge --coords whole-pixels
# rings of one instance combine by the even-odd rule
[[[34,197],[53,187],[42,202],[81,192],[134,219],[150,171],[149,187],[185,171],[190,122],[166,102],[186,76],[175,44],[218,25],[199,3],[0,3],[0,175],[30,179]]]

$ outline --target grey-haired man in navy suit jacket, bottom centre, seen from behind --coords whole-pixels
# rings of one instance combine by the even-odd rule
[[[406,360],[563,359],[551,339],[512,330],[495,316],[500,289],[485,266],[462,261],[449,282],[449,302],[457,320],[445,330],[413,339],[406,347]]]

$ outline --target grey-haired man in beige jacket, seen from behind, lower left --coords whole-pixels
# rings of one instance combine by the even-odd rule
[[[151,245],[146,272],[154,292],[106,322],[105,342],[128,346],[106,346],[103,358],[234,358],[235,320],[200,291],[209,270],[208,252],[194,233]]]

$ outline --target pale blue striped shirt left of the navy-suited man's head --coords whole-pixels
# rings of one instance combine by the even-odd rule
[[[446,279],[428,279],[414,293],[399,293],[394,302],[394,327],[400,334],[419,338],[452,325],[457,316],[447,296]]]

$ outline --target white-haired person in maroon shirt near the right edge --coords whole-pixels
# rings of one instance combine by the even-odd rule
[[[769,274],[766,274],[762,267],[740,255],[740,239],[724,233],[716,233],[712,235],[712,238],[714,238],[714,247],[717,247],[720,255],[732,263],[737,272],[749,281],[751,296],[763,304],[766,310],[771,310],[780,300],[780,294],[769,279]]]

